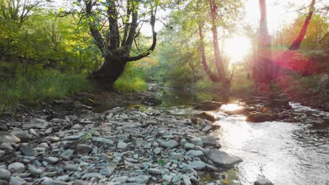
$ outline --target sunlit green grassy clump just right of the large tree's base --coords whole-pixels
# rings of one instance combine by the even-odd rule
[[[146,90],[148,84],[145,81],[144,72],[134,64],[127,64],[122,76],[115,81],[115,89],[123,91]]]

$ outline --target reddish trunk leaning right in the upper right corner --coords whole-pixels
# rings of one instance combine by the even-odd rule
[[[312,0],[311,4],[309,6],[309,15],[307,15],[307,18],[305,19],[304,25],[302,29],[299,32],[299,35],[295,39],[295,41],[290,46],[289,50],[297,50],[300,47],[300,44],[302,43],[305,34],[307,33],[307,28],[309,27],[309,22],[312,18],[312,15],[314,13],[314,4],[316,3],[316,0]]]

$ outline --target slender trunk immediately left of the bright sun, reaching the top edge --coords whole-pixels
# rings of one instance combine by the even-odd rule
[[[217,33],[217,4],[215,0],[209,0],[210,11],[212,13],[212,36],[213,36],[213,46],[214,46],[214,62],[217,68],[217,73],[219,79],[224,85],[228,85],[228,80],[226,78],[226,72],[224,69],[223,60],[219,53],[219,43],[218,43],[218,33]]]

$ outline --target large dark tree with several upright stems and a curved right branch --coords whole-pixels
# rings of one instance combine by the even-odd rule
[[[84,4],[82,17],[87,18],[91,36],[104,58],[103,66],[91,78],[112,90],[127,62],[140,60],[155,49],[155,14],[159,1],[84,0],[80,4]],[[153,41],[143,50],[136,39],[144,23],[150,24]]]

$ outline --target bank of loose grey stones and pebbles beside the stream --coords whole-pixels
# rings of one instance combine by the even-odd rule
[[[202,118],[116,107],[0,122],[0,184],[221,184],[200,175],[243,160],[221,151]],[[221,179],[219,178],[219,179]]]

